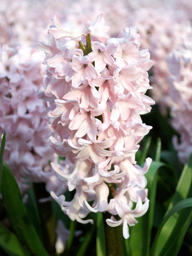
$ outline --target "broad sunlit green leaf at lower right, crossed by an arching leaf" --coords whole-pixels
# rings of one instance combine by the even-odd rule
[[[178,181],[177,187],[175,189],[175,193],[173,198],[168,206],[168,210],[165,216],[169,216],[175,209],[179,209],[179,205],[182,206],[181,200],[192,197],[192,155],[189,158],[188,164],[185,165],[181,177]],[[178,204],[180,202],[180,204]],[[185,202],[188,201],[184,201]],[[174,208],[176,206],[176,208]],[[191,211],[189,209],[185,209],[181,212],[174,212],[165,223],[165,219],[162,222],[152,247],[151,255],[163,255],[162,252],[165,253],[165,248],[171,248],[171,246],[175,243],[175,237],[177,237],[177,242],[182,241],[184,238],[186,229],[182,227],[187,227],[191,221]],[[165,217],[167,218],[167,217]],[[183,231],[180,231],[182,229]],[[178,234],[179,233],[179,234]],[[181,244],[177,244],[181,246]],[[170,255],[175,255],[174,250]]]

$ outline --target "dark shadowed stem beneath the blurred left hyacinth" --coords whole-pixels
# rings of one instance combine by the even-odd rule
[[[33,187],[41,219],[43,243],[48,253],[51,256],[54,256],[56,242],[56,221],[52,212],[51,201],[39,203],[39,199],[49,197],[50,194],[45,189],[45,183],[34,183]]]

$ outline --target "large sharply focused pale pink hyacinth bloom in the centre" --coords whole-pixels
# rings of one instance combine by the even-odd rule
[[[84,220],[90,212],[109,212],[107,224],[123,225],[128,238],[127,224],[135,225],[149,205],[144,174],[152,160],[147,158],[141,168],[135,153],[152,128],[140,114],[154,104],[145,95],[153,61],[148,50],[139,50],[135,26],[109,38],[102,14],[85,22],[85,32],[66,28],[57,14],[53,21],[48,43],[39,42],[47,68],[38,97],[49,117],[52,147],[65,157],[63,166],[52,167],[76,192],[70,202],[64,195],[51,195],[80,223],[93,222]]]

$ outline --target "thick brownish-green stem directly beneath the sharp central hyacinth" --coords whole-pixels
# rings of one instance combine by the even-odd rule
[[[104,220],[110,217],[109,213],[103,214]],[[105,222],[105,221],[104,221]],[[105,237],[107,256],[123,256],[122,226],[110,227],[105,222]]]

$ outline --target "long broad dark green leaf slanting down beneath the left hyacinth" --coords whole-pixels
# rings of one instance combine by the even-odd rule
[[[35,256],[48,256],[27,215],[17,182],[5,162],[1,192],[10,225],[23,246]]]

